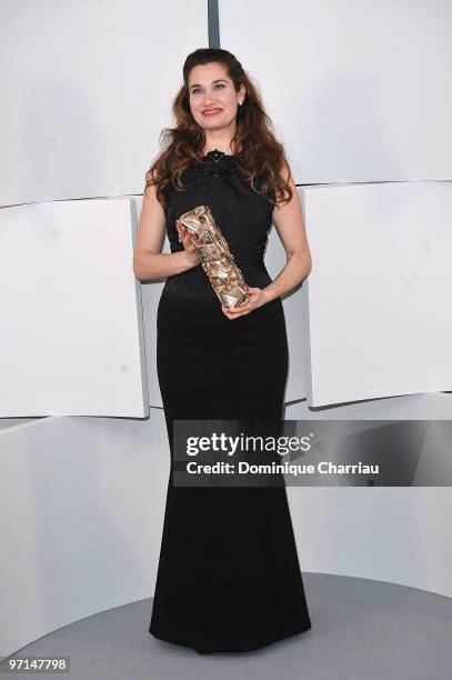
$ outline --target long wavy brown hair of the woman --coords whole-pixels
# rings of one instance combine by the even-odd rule
[[[285,167],[289,179],[289,163],[282,144],[273,134],[273,124],[263,109],[259,90],[238,59],[228,50],[219,48],[202,48],[187,57],[183,64],[183,84],[172,104],[175,127],[163,128],[160,133],[164,149],[160,151],[145,174],[144,192],[149,186],[155,184],[157,199],[165,208],[164,187],[172,182],[174,188],[183,190],[181,176],[184,170],[193,163],[202,163],[205,134],[191,113],[188,83],[193,67],[211,62],[224,67],[237,92],[241,83],[247,90],[243,103],[238,109],[237,130],[232,138],[234,148],[241,149],[240,167],[243,170],[244,181],[249,181],[258,193],[270,191],[272,197],[268,196],[268,199],[274,204],[289,202],[292,189],[281,177],[281,170]],[[261,180],[262,191],[255,188],[255,178]],[[285,193],[288,196],[284,198]]]

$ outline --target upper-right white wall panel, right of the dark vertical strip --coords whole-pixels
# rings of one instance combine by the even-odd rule
[[[452,179],[450,0],[219,7],[298,183]]]

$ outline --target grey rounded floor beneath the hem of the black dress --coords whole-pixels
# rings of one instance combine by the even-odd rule
[[[69,656],[71,680],[452,680],[452,599],[364,579],[303,579],[312,630],[259,651],[199,656],[155,640],[152,600],[142,600],[67,626],[14,657]]]

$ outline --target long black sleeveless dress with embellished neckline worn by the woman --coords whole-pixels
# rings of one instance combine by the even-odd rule
[[[171,251],[183,249],[175,220],[207,204],[248,286],[271,283],[263,256],[273,206],[244,180],[240,154],[210,151],[182,181],[184,191],[167,187]],[[157,333],[171,468],[149,632],[197,651],[242,652],[309,630],[285,486],[172,484],[173,419],[282,419],[281,298],[230,320],[198,264],[167,279]]]

